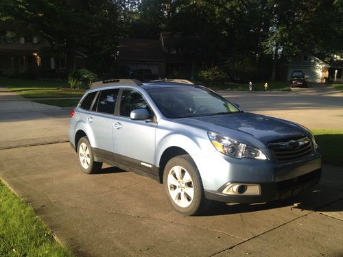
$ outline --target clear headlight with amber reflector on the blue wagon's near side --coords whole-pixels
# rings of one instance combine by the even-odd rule
[[[234,157],[234,158],[252,158],[252,159],[259,159],[259,160],[267,160],[267,156],[263,154],[258,148],[251,147],[250,145],[246,145],[244,143],[240,143],[239,141],[230,138],[228,136],[222,136],[215,132],[207,132],[209,134],[209,138],[211,143],[222,154],[226,154],[227,156]]]

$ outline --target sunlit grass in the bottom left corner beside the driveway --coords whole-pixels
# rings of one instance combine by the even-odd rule
[[[0,181],[0,256],[73,256],[34,209]]]

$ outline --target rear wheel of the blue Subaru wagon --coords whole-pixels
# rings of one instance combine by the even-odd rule
[[[84,173],[97,173],[102,169],[102,162],[95,162],[93,149],[86,136],[78,142],[78,160]]]

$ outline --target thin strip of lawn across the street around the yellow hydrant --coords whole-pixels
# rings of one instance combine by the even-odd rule
[[[290,91],[288,82],[267,82],[268,90],[280,90],[280,91]],[[200,83],[201,84],[201,83]],[[253,91],[263,91],[265,82],[253,83]],[[206,86],[206,85],[205,85]],[[248,91],[249,86],[247,84],[237,84],[237,83],[224,83],[220,85],[207,85],[209,88],[214,90],[235,90],[235,91]]]

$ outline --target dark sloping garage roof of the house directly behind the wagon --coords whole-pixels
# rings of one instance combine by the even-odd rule
[[[165,52],[160,40],[119,38],[119,59],[165,62]]]

